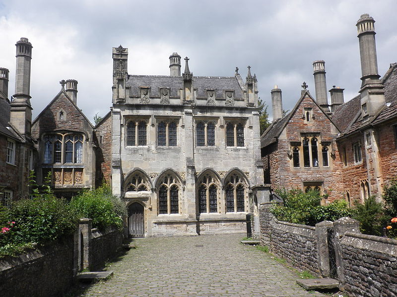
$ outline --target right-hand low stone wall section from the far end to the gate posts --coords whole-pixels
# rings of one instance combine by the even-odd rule
[[[315,228],[273,220],[270,250],[292,265],[319,275]]]

